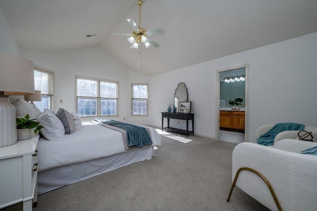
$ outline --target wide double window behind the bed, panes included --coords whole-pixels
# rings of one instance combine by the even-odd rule
[[[76,76],[79,116],[117,116],[118,82]]]

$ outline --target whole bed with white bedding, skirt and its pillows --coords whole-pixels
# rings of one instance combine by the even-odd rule
[[[37,146],[38,194],[149,160],[154,156],[155,148],[161,144],[161,136],[153,127],[139,128],[135,133],[140,135],[143,130],[140,136],[146,134],[147,141],[142,140],[143,144],[128,147],[122,129],[118,131],[114,126],[111,126],[112,129],[104,127],[106,124],[96,121],[82,122],[77,114],[63,108],[56,113],[51,109],[41,112],[25,101],[23,95],[8,97],[15,107],[16,117],[29,114],[30,119],[37,119],[44,127]],[[147,131],[144,131],[144,127]]]

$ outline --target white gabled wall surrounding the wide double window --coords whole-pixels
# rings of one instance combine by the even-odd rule
[[[56,112],[60,107],[76,112],[75,75],[119,82],[119,121],[129,117],[129,71],[110,56],[100,46],[75,50],[51,52],[20,49],[20,54],[34,62],[34,65],[55,73],[54,105]],[[63,103],[60,103],[60,100]],[[126,119],[128,120],[128,119]]]

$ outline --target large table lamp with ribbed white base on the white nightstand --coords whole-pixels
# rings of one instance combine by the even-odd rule
[[[34,94],[33,62],[0,52],[0,147],[17,141],[15,108],[4,95],[30,94]]]

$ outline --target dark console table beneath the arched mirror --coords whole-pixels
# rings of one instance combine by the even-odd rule
[[[165,129],[169,131],[185,133],[187,137],[189,133],[193,133],[194,135],[194,114],[169,113],[169,112],[161,112],[161,113],[162,113],[162,130]],[[163,127],[164,118],[167,118],[167,127]],[[186,130],[169,127],[169,119],[186,120]],[[188,131],[188,120],[192,121],[193,131]]]

